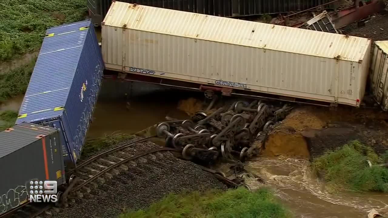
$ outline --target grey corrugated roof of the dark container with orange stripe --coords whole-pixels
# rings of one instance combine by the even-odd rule
[[[50,135],[57,131],[54,128],[31,123],[20,123],[11,127],[12,131],[0,132],[0,158],[11,154],[37,140],[38,135]]]

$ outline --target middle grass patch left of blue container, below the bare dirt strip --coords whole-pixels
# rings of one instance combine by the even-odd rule
[[[0,74],[0,103],[26,92],[35,61]]]

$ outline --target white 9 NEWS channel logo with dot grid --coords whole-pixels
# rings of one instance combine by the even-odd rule
[[[30,181],[29,202],[57,202],[57,181]]]

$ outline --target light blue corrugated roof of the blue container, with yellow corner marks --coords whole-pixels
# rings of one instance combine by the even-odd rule
[[[16,123],[61,116],[90,24],[85,20],[47,29]]]

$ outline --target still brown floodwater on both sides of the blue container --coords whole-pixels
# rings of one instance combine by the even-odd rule
[[[158,85],[104,80],[87,138],[112,133],[134,134],[165,121],[166,116],[189,119],[189,115],[177,106],[179,100],[190,96],[201,95]],[[11,99],[0,105],[0,112],[18,111],[22,101],[23,96]]]

